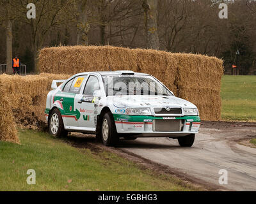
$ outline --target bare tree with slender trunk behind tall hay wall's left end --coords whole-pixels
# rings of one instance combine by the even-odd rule
[[[20,0],[19,6],[15,4],[15,1],[10,3],[12,8],[15,8],[15,20],[26,24],[30,27],[31,31],[31,46],[34,54],[34,66],[35,72],[38,72],[37,57],[38,50],[42,48],[45,42],[45,38],[49,31],[56,27],[60,27],[63,24],[67,24],[69,21],[66,18],[67,10],[71,8],[71,0],[56,0],[56,1],[36,1],[36,19],[28,19],[26,13],[28,9],[27,4],[31,3],[28,0]]]

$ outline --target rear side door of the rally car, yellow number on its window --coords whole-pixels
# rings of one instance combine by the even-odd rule
[[[79,94],[83,85],[86,75],[78,76],[67,82],[62,92],[59,92],[54,97],[55,101],[61,103],[62,110],[61,116],[66,127],[77,127],[79,126],[78,120],[81,117],[79,109],[76,107],[75,99]]]

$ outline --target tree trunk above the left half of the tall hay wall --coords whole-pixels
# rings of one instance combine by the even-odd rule
[[[90,24],[88,24],[86,13],[87,0],[77,1],[77,45],[88,45],[88,34],[90,31]]]

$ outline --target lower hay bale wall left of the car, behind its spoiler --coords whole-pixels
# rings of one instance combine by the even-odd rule
[[[44,128],[46,98],[48,92],[51,91],[52,80],[69,77],[70,75],[54,74],[28,75],[26,77],[0,75],[0,93],[4,94],[4,99],[9,101],[10,106],[9,109],[6,106],[0,106],[0,112],[8,112],[13,115],[14,124],[16,123],[20,128]],[[5,101],[4,104],[6,104]],[[0,128],[0,132],[1,130]]]

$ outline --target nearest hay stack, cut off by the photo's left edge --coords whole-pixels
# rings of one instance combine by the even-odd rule
[[[10,101],[7,99],[6,94],[8,93],[4,91],[3,82],[0,79],[0,140],[20,143]]]

